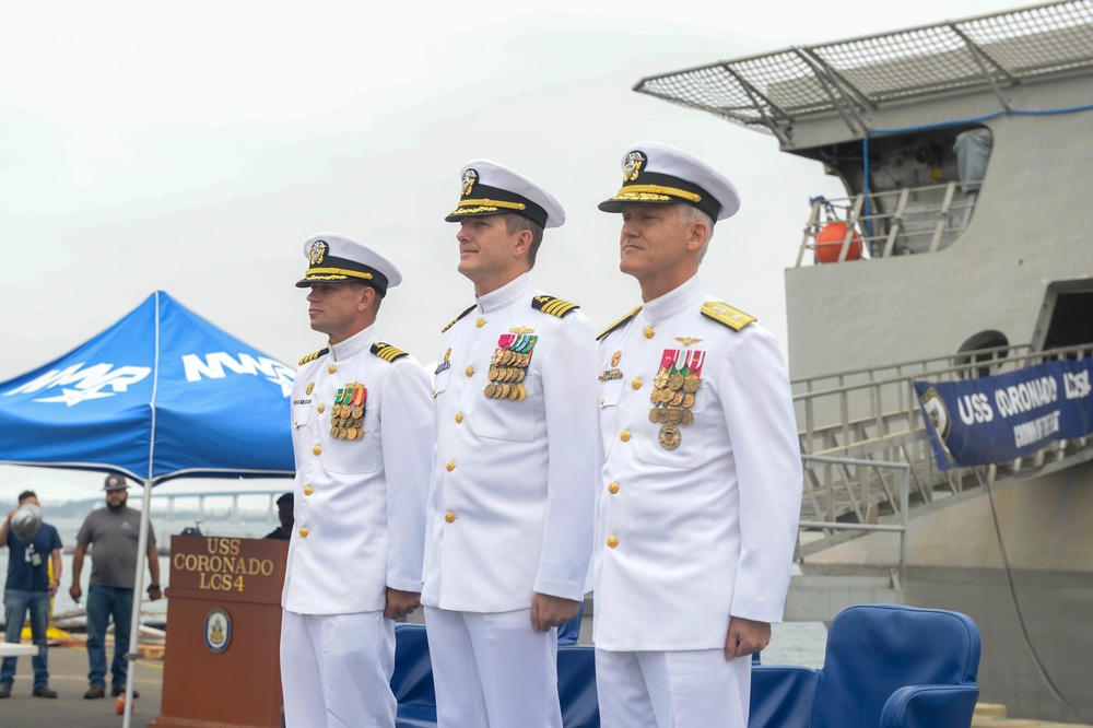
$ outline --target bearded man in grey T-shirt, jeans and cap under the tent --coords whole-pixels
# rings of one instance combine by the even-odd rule
[[[124,695],[129,671],[129,632],[132,626],[134,583],[137,580],[137,549],[140,539],[139,510],[130,508],[129,483],[125,475],[110,473],[103,490],[106,507],[87,514],[75,537],[72,554],[72,586],[69,596],[80,601],[83,589],[83,559],[87,547],[95,544],[91,557],[91,586],[87,589],[87,700],[106,696],[106,627],[114,618],[114,660],[110,664],[110,695]],[[160,589],[160,555],[155,550],[155,531],[148,525],[148,571],[152,583],[148,586],[149,599],[163,596]],[[133,697],[138,692],[133,691]]]

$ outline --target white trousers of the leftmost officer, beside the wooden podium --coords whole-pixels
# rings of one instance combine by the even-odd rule
[[[383,612],[282,610],[281,688],[287,728],[393,728],[395,623]]]

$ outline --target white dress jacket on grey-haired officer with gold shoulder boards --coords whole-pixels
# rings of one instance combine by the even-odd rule
[[[601,336],[601,649],[720,648],[730,615],[781,621],[802,484],[789,380],[774,338],[704,315],[710,301],[695,277]],[[650,420],[666,357],[702,365],[675,449]]]

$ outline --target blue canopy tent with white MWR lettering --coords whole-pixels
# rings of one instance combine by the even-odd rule
[[[293,475],[294,374],[156,291],[81,347],[0,384],[0,462],[118,471],[142,482],[141,594],[154,485]],[[139,611],[134,599],[133,646]],[[130,670],[127,727],[132,679]]]

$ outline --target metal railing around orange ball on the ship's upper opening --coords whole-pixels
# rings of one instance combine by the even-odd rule
[[[953,180],[832,200],[813,198],[796,267],[809,250],[816,262],[937,253],[967,228],[978,188],[978,181]],[[821,239],[831,223],[845,231],[841,239]]]

